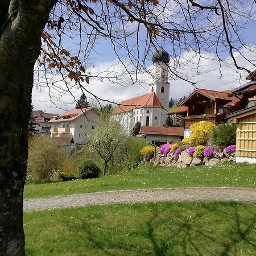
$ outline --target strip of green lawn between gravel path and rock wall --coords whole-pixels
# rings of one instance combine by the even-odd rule
[[[217,167],[143,166],[118,175],[90,180],[28,184],[24,198],[71,195],[97,191],[166,187],[256,187],[255,164],[225,164]]]

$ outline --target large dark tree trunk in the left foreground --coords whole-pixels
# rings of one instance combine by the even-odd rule
[[[20,256],[25,255],[22,208],[33,70],[56,1],[9,2],[13,16],[0,23],[0,255]]]

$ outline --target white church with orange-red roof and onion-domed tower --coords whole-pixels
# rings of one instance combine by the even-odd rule
[[[131,133],[135,123],[143,126],[163,127],[170,98],[168,82],[168,63],[170,56],[159,49],[152,57],[152,82],[148,93],[122,101],[114,110],[114,117],[119,119],[127,133]]]

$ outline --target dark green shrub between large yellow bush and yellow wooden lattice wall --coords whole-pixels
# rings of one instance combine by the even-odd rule
[[[213,131],[213,143],[222,149],[236,144],[237,126],[234,123],[220,123]]]

